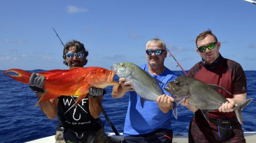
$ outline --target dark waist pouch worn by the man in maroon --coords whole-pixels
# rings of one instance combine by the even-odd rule
[[[229,119],[217,119],[218,134],[221,139],[226,140],[231,138],[232,130],[231,121]]]

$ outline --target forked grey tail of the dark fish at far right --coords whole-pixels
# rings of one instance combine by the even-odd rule
[[[244,125],[243,117],[242,117],[242,109],[244,108],[244,106],[248,105],[252,101],[252,99],[253,98],[250,98],[234,105],[234,108],[233,108],[234,113],[236,113],[237,119],[241,125]]]

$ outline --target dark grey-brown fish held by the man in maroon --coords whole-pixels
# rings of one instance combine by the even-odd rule
[[[188,98],[188,103],[200,109],[208,122],[209,118],[207,113],[211,110],[219,109],[222,103],[228,102],[228,100],[221,96],[215,89],[222,89],[228,92],[219,85],[206,84],[205,82],[188,76],[179,76],[175,80],[168,82],[165,88],[167,92],[176,97],[175,100],[177,102]],[[244,106],[249,104],[252,99],[253,98],[242,101],[233,107],[234,113],[236,113],[237,119],[241,125],[244,125],[241,110]]]

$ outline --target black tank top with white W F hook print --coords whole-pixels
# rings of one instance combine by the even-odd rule
[[[100,119],[94,119],[91,116],[88,96],[82,99],[77,106],[73,106],[76,98],[77,96],[58,97],[57,130],[63,127],[75,132],[83,132],[100,126]]]

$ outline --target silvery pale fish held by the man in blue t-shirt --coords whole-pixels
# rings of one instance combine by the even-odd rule
[[[164,94],[156,80],[133,63],[116,63],[111,66],[111,69],[119,78],[125,78],[126,81],[131,82],[134,91],[140,95],[142,107],[145,100],[157,101],[157,98]],[[172,102],[172,110],[174,117],[177,119],[176,102]]]

